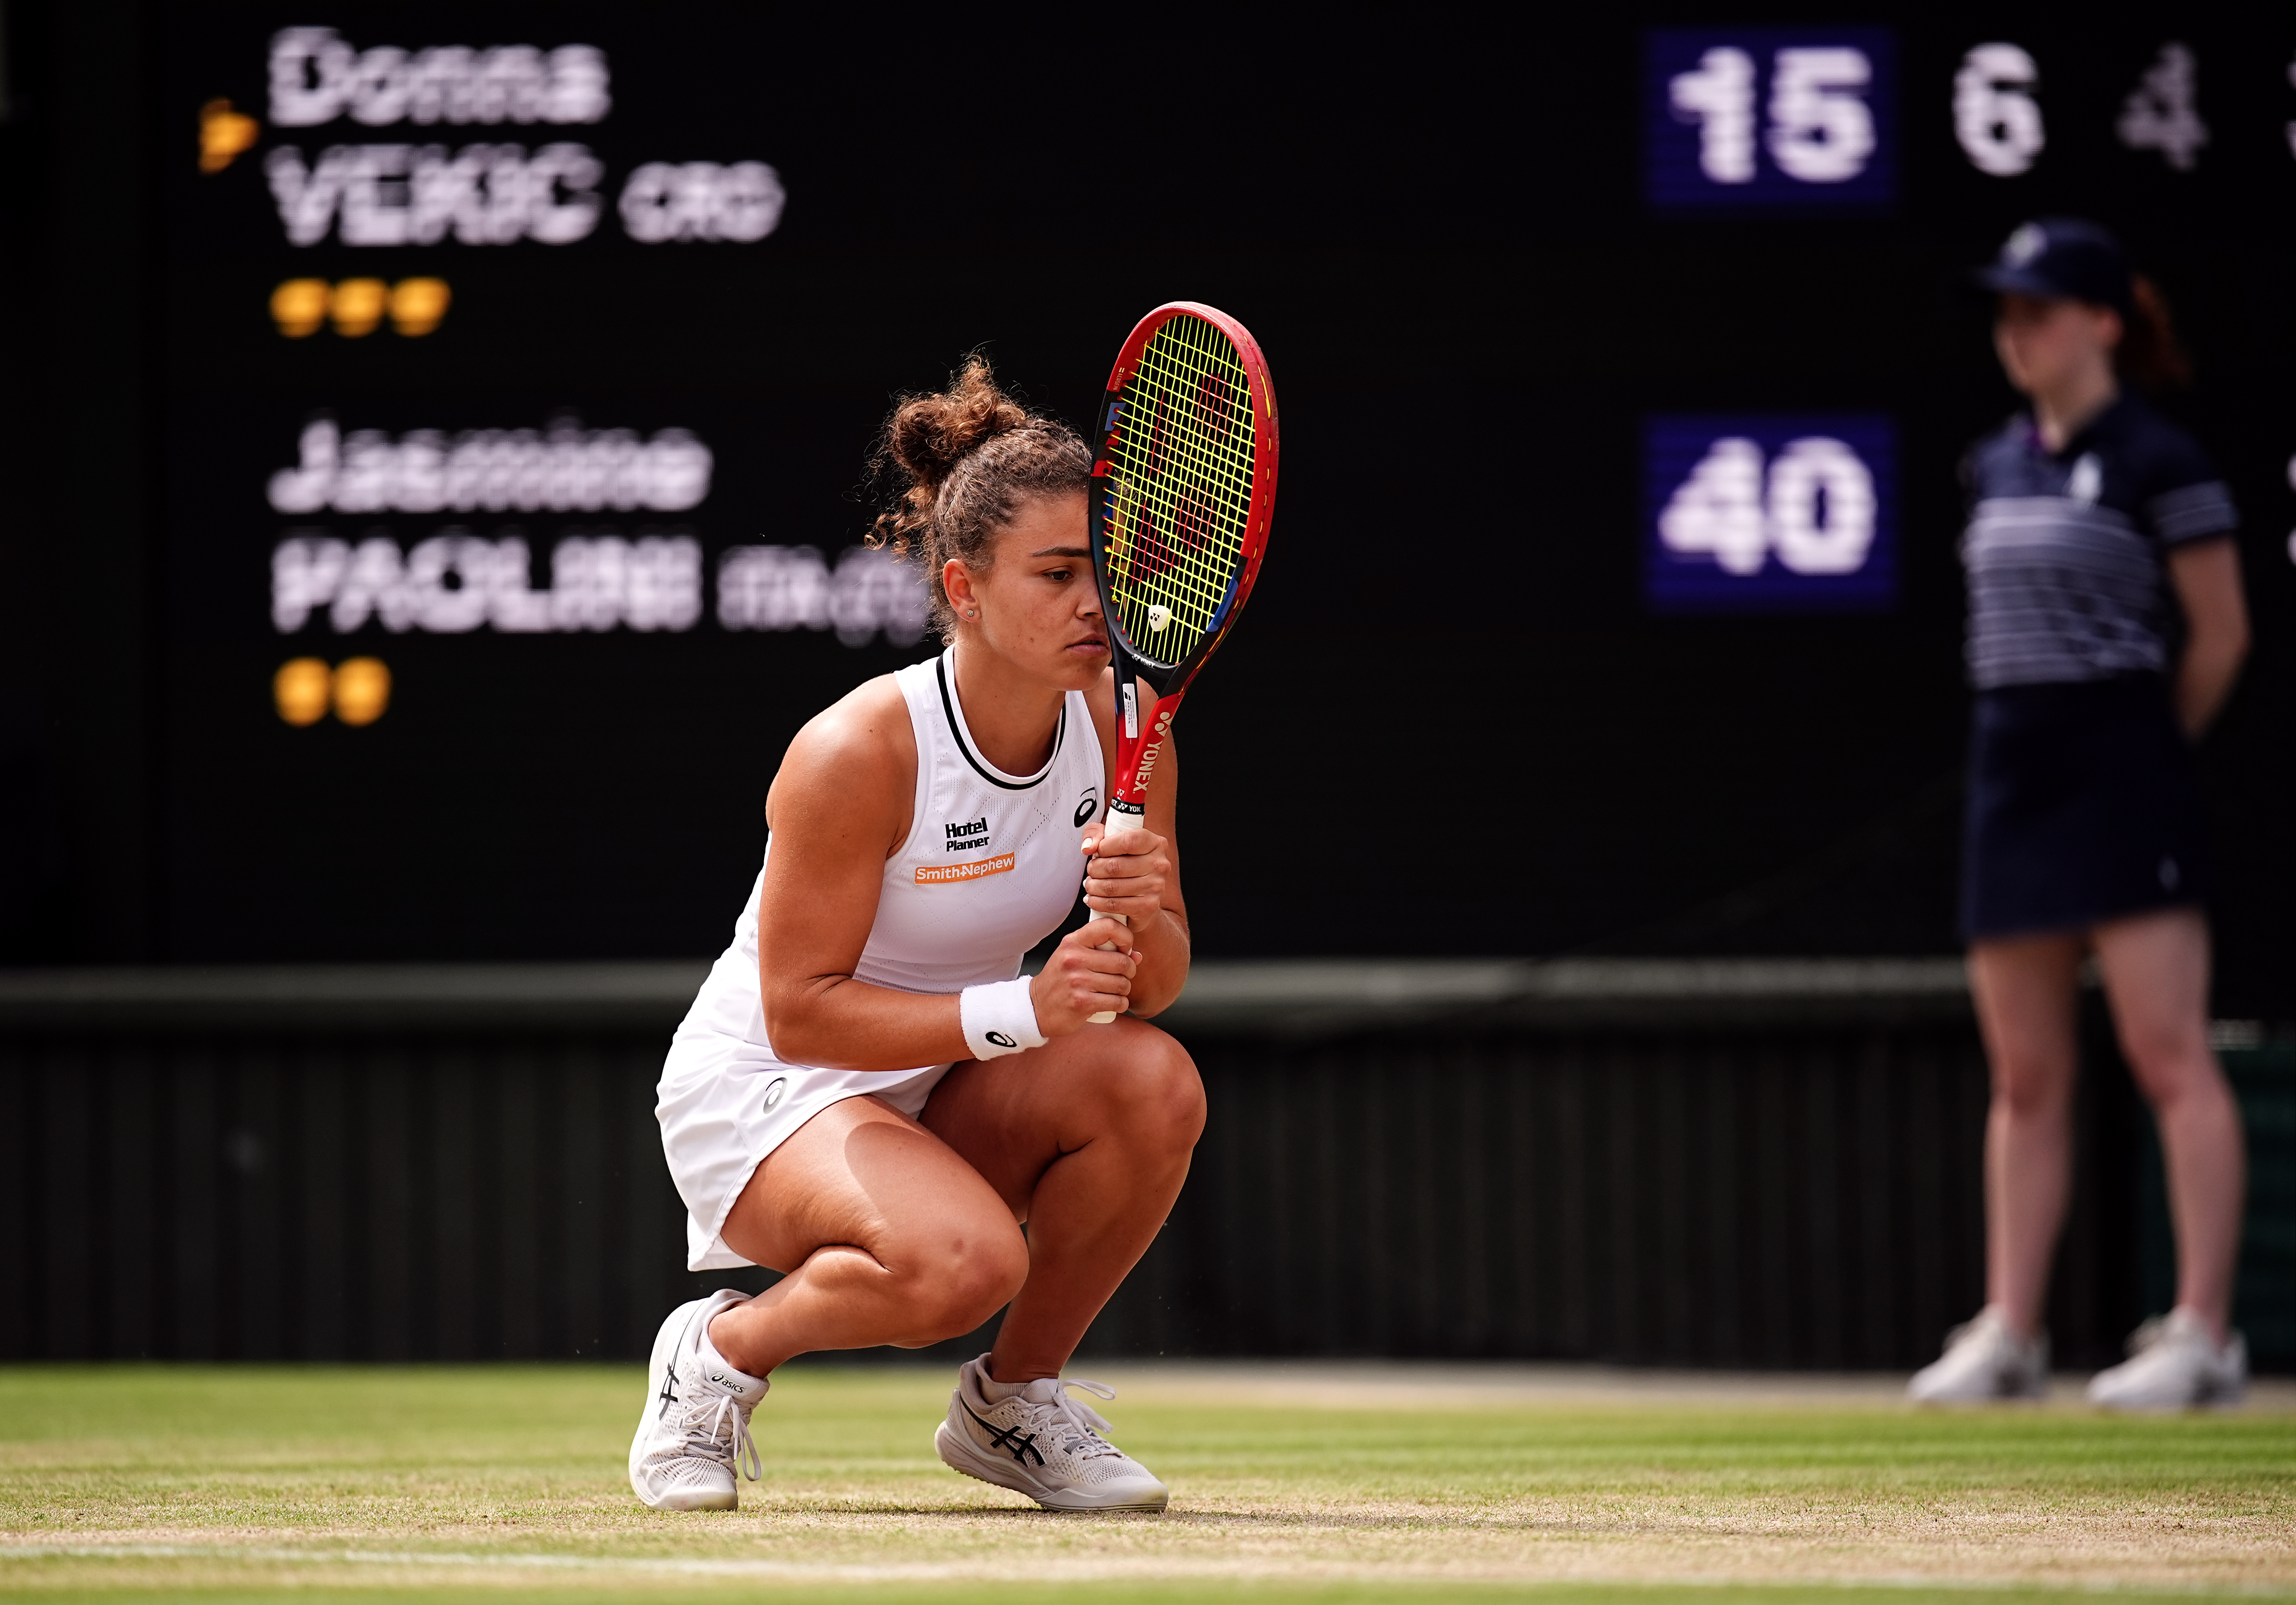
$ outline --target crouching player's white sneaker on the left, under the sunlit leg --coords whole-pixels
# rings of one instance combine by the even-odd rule
[[[739,1502],[735,1467],[751,1481],[765,1470],[748,1412],[767,1382],[728,1366],[707,1341],[709,1318],[746,1302],[746,1293],[721,1288],[673,1309],[654,1334],[645,1410],[629,1440],[629,1486],[657,1511],[730,1511]]]

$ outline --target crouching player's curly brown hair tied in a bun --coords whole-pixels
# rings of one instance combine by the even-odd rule
[[[1077,432],[999,390],[983,356],[964,358],[946,390],[900,397],[877,436],[872,468],[905,484],[868,544],[891,546],[925,569],[941,641],[957,634],[941,565],[957,558],[974,572],[987,569],[996,533],[1024,501],[1081,491],[1093,480]]]

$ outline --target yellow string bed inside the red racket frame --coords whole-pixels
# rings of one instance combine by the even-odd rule
[[[1215,324],[1180,315],[1123,390],[1109,462],[1109,592],[1125,641],[1178,664],[1228,595],[1251,517],[1251,377]]]

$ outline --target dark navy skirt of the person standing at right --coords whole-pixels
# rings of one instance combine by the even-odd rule
[[[2165,680],[1977,693],[1963,939],[2197,905],[2206,873],[2200,778]]]

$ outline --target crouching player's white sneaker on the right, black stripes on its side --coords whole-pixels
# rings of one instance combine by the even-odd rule
[[[1042,1378],[1008,1398],[983,1391],[987,1355],[957,1368],[948,1419],[932,1433],[941,1460],[967,1476],[1024,1492],[1047,1511],[1162,1511],[1171,1488],[1111,1444],[1114,1428],[1065,1389],[1116,1398],[1114,1387],[1084,1378]]]

